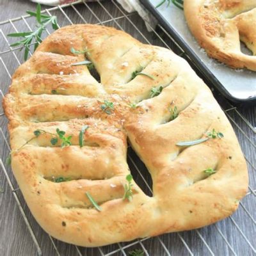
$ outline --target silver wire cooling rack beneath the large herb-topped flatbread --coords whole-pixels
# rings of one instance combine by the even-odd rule
[[[48,15],[56,15],[60,27],[78,23],[113,26],[127,31],[141,42],[171,48],[190,61],[185,52],[175,44],[172,37],[163,28],[158,27],[157,31],[153,29],[153,32],[148,33],[143,20],[137,13],[126,13],[113,0],[97,1],[90,4],[77,1],[45,9],[44,12]],[[8,92],[14,70],[23,62],[24,49],[20,51],[19,47],[10,47],[13,38],[8,38],[6,35],[20,29],[29,31],[34,27],[35,19],[29,15],[0,22],[0,100]],[[51,28],[47,28],[43,38],[51,32]],[[31,49],[32,47],[33,44]],[[31,55],[31,52],[29,54]],[[193,63],[191,65],[193,66]],[[129,243],[118,243],[99,248],[83,248],[62,243],[47,235],[31,216],[12,170],[5,164],[10,146],[8,144],[7,119],[0,106],[0,169],[2,170],[0,173],[0,255],[129,255],[134,249],[142,250],[143,255],[147,256],[256,255],[255,116],[253,118],[255,109],[248,107],[252,113],[250,118],[246,115],[247,112],[244,108],[230,105],[218,92],[214,92],[214,95],[236,131],[250,173],[248,193],[241,201],[238,211],[223,221],[198,230],[146,237]],[[127,161],[137,184],[147,195],[152,195],[150,175],[131,148],[128,148]],[[44,213],[42,212],[42,214]]]

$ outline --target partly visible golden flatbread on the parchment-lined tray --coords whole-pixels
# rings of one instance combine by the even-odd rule
[[[256,71],[256,0],[184,0],[184,13],[209,56]],[[240,41],[253,56],[241,52]]]

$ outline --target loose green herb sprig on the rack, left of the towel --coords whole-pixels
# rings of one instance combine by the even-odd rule
[[[28,60],[29,46],[31,45],[31,43],[34,40],[35,41],[34,51],[36,50],[36,48],[38,47],[40,42],[42,42],[41,36],[42,36],[42,33],[45,31],[45,28],[48,24],[52,24],[52,29],[54,29],[54,30],[58,29],[57,17],[43,15],[41,13],[40,4],[37,4],[36,12],[27,11],[27,13],[32,17],[36,17],[37,24],[36,24],[35,31],[11,33],[8,35],[8,36],[12,36],[12,37],[23,37],[24,38],[18,42],[11,44],[10,46],[15,47],[15,46],[22,45],[22,48],[25,47],[25,52],[24,52],[24,60],[25,61]]]

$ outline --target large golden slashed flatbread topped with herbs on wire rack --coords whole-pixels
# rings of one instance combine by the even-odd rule
[[[74,65],[84,51],[100,83]],[[3,104],[29,209],[67,243],[102,246],[202,227],[232,214],[246,193],[243,154],[211,90],[172,51],[115,28],[58,29],[17,69]],[[71,145],[60,147],[56,129]],[[127,138],[154,196],[134,180],[124,196]]]

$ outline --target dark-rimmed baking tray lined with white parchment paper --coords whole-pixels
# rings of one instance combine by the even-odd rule
[[[172,3],[156,8],[159,0],[140,0],[148,11],[156,17],[159,24],[172,36],[173,40],[196,65],[196,68],[218,90],[232,102],[256,102],[256,72],[250,70],[234,70],[212,58],[200,48],[191,35],[182,10]],[[246,50],[244,50],[246,51]]]

